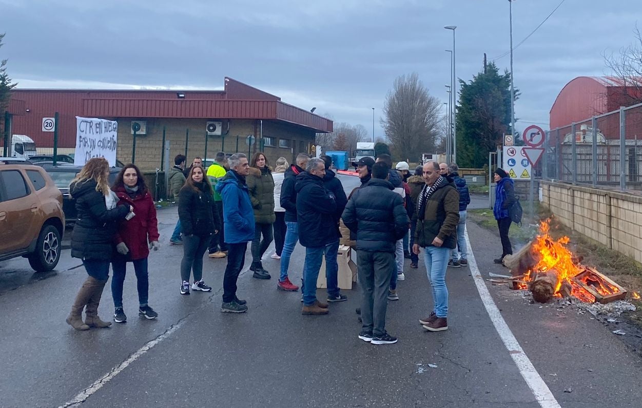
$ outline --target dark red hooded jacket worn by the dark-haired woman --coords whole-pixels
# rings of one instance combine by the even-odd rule
[[[119,199],[118,205],[127,208],[133,206],[135,214],[131,220],[119,222],[116,244],[125,242],[127,249],[129,249],[128,260],[147,258],[150,254],[149,242],[159,240],[156,206],[152,195],[149,191],[144,191],[144,193],[136,194],[132,198],[125,190],[125,186],[120,186],[114,192]]]

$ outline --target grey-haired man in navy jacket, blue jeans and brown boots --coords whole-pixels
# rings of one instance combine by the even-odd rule
[[[339,247],[338,228],[334,227],[336,200],[334,194],[325,190],[323,177],[324,161],[310,159],[306,171],[297,175],[297,223],[299,242],[306,247],[303,271],[303,308],[301,314],[327,314],[327,303],[317,300],[317,278],[325,254],[326,276],[336,276]],[[332,258],[331,254],[334,254]],[[328,288],[330,284],[328,285]],[[340,294],[336,294],[341,296]]]

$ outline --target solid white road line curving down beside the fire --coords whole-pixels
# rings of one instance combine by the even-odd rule
[[[471,240],[468,237],[468,228],[465,229],[464,235],[466,245],[468,245],[468,265],[471,269],[471,276],[473,276],[477,290],[482,298],[482,303],[486,308],[486,312],[488,312],[490,321],[492,321],[492,324],[495,326],[495,330],[497,330],[499,337],[501,337],[501,341],[504,342],[508,353],[510,353],[510,357],[512,357],[515,362],[521,376],[524,377],[526,385],[528,385],[528,388],[530,388],[535,395],[535,399],[539,405],[541,405],[542,408],[560,408],[560,404],[555,400],[555,396],[553,396],[551,390],[548,389],[548,386],[546,386],[546,383],[542,380],[542,377],[537,373],[533,363],[530,362],[530,359],[526,356],[519,342],[517,342],[515,335],[510,331],[510,328],[508,328],[508,324],[499,312],[499,308],[492,300],[490,292],[483,281],[482,274],[477,267]]]

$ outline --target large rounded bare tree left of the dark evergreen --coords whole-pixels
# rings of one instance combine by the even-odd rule
[[[416,160],[435,150],[441,102],[430,96],[417,73],[395,79],[386,96],[381,125],[397,159]]]

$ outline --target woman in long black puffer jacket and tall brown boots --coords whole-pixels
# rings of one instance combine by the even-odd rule
[[[98,317],[98,304],[109,278],[109,263],[114,254],[117,223],[132,210],[116,206],[118,198],[109,189],[109,164],[102,157],[88,161],[71,181],[69,193],[76,200],[78,218],[71,235],[71,256],[82,259],[89,277],[71,306],[67,323],[76,330],[108,327],[112,323]],[[85,308],[85,305],[87,308]],[[85,322],[82,310],[85,308]]]

